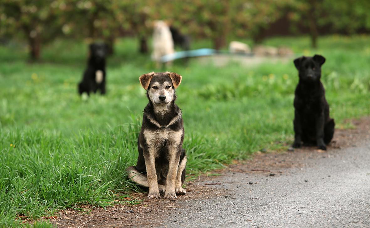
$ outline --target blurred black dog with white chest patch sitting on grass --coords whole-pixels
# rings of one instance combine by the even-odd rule
[[[105,57],[107,56],[107,45],[105,44],[90,44],[89,59],[87,69],[80,84],[78,84],[78,92],[83,94],[86,92],[96,93],[99,89],[101,94],[105,94]]]

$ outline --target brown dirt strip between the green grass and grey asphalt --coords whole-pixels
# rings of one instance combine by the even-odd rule
[[[334,139],[328,150],[355,146],[356,142],[370,138],[370,117],[353,120],[355,129],[336,129]],[[264,173],[266,175],[279,175],[284,169],[305,166],[305,160],[315,153],[325,153],[315,147],[295,149],[295,151],[262,153],[253,155],[251,160],[242,163],[235,162],[227,169],[231,172]],[[216,170],[213,174],[222,174],[226,170]],[[213,181],[214,180],[214,181]],[[160,199],[149,200],[147,193],[134,193],[133,199],[142,200],[138,205],[115,205],[104,208],[82,207],[82,210],[63,210],[50,217],[50,222],[57,227],[155,227],[162,225],[166,214],[174,208],[179,208],[179,202],[225,196],[222,188],[214,175],[203,175],[195,181],[186,182],[185,196],[176,200]],[[179,215],[181,216],[181,215]]]

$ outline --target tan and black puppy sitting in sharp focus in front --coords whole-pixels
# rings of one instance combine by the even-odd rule
[[[144,108],[138,137],[138,161],[128,167],[128,177],[149,187],[148,198],[174,199],[185,195],[186,155],[182,148],[184,124],[180,108],[175,104],[175,89],[182,77],[176,73],[147,73],[139,77],[147,90],[148,104]]]

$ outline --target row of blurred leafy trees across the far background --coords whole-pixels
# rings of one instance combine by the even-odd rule
[[[153,20],[166,20],[195,40],[209,39],[222,49],[231,39],[253,44],[275,36],[308,35],[317,47],[319,35],[366,34],[369,1],[90,1],[2,0],[1,44],[27,44],[31,59],[56,39],[103,40],[114,53],[121,37],[135,37],[138,52],[148,52]]]

